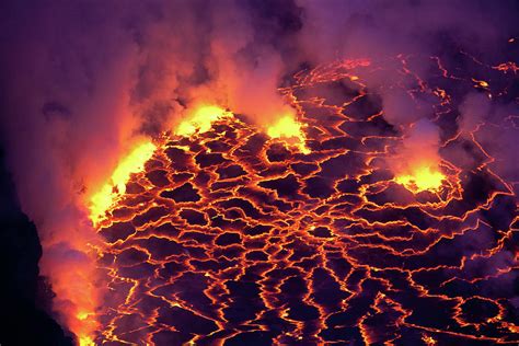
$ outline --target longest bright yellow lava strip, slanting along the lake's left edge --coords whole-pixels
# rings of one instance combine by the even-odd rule
[[[90,218],[94,223],[112,206],[115,198],[126,192],[126,183],[131,173],[142,171],[146,161],[151,159],[154,150],[155,146],[152,142],[146,142],[119,161],[109,181],[90,199]]]

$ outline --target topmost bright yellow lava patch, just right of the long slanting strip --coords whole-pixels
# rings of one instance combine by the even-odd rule
[[[198,132],[206,132],[211,128],[212,123],[232,114],[218,106],[201,106],[192,116],[183,120],[175,129],[175,135],[191,136]]]

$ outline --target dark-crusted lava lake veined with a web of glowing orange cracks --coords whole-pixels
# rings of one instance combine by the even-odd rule
[[[449,116],[449,90],[402,66],[417,93],[436,97],[434,119]],[[125,187],[93,214],[108,292],[90,339],[519,343],[510,293],[499,289],[519,268],[510,184],[476,134],[440,146],[470,146],[477,169],[443,158],[438,169],[388,170],[404,135],[367,102],[364,82],[382,68],[354,60],[300,72],[280,90],[297,122],[264,130],[210,107],[137,155]],[[326,99],[331,90],[342,97]]]

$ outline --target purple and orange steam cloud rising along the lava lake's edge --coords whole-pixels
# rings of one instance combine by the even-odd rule
[[[70,297],[82,297],[71,290],[88,293],[95,276],[84,246],[95,244],[84,192],[99,187],[139,137],[170,129],[200,102],[268,124],[293,113],[277,92],[291,73],[334,59],[435,55],[449,61],[453,51],[465,50],[488,64],[503,62],[506,42],[518,34],[519,13],[515,1],[497,7],[461,0],[1,7],[1,136],[22,207],[41,233],[41,265],[57,293],[55,310],[67,325],[64,315],[78,303]],[[429,64],[413,68],[424,80],[430,77]],[[497,105],[482,93],[457,90],[459,115],[440,128],[431,123],[427,100],[385,89],[394,73],[388,68],[368,80],[368,88],[382,96],[391,125],[408,130],[419,123],[408,138],[435,155],[442,131],[459,127],[469,136],[483,119],[518,114],[517,100]],[[517,181],[517,150],[506,149],[516,138],[505,134],[496,141],[496,130],[488,127],[483,140],[497,155],[497,169]],[[423,141],[424,135],[430,140]],[[442,154],[470,161],[468,152]]]

